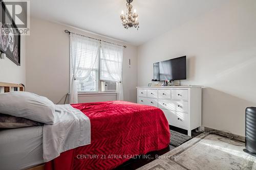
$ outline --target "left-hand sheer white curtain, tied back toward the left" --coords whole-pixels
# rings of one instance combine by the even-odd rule
[[[100,41],[70,34],[70,103],[78,103],[76,81],[86,79],[97,64]]]

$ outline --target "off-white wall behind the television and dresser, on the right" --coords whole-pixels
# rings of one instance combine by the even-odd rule
[[[153,63],[187,56],[183,85],[203,85],[203,126],[243,135],[256,106],[256,1],[232,1],[138,47],[138,85]]]

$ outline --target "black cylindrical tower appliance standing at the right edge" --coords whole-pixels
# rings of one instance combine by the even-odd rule
[[[247,107],[245,110],[244,152],[256,156],[256,107]]]

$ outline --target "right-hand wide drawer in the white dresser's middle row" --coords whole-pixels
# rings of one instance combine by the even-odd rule
[[[185,101],[174,101],[174,100],[159,99],[158,100],[158,107],[160,109],[180,111],[180,112],[187,112],[188,111],[187,102],[185,102]]]

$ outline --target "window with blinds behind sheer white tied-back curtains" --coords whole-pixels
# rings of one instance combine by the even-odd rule
[[[70,91],[73,102],[77,102],[77,92],[122,89],[120,84],[123,46],[78,34],[70,36],[70,43],[72,77]]]

